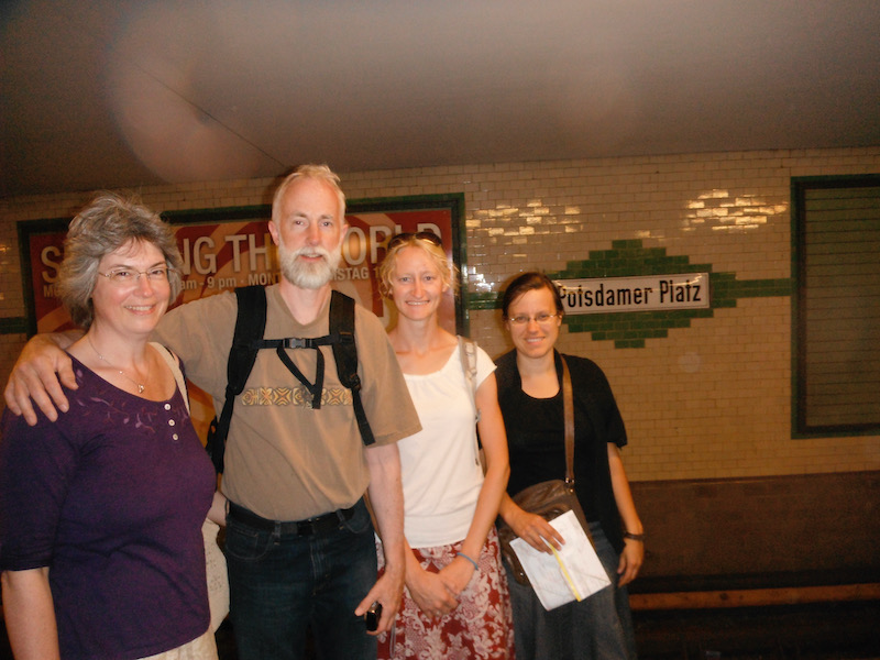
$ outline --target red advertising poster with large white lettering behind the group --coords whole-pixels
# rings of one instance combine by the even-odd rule
[[[382,297],[377,277],[388,239],[402,232],[432,231],[441,238],[448,257],[463,271],[463,208],[460,195],[350,202],[345,215],[349,231],[334,288],[352,296],[391,327],[395,322],[394,306]],[[268,206],[163,213],[175,229],[184,260],[184,288],[174,306],[239,286],[278,282],[277,257],[267,229],[270,217]],[[69,220],[19,223],[32,333],[73,327],[55,293]],[[441,305],[441,323],[450,332],[466,333],[466,321],[460,298],[448,293]],[[210,398],[195,387],[190,397],[193,418],[204,439],[213,407]]]

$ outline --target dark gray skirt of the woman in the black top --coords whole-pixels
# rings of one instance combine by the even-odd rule
[[[580,603],[547,612],[531,586],[519,584],[507,563],[517,660],[634,660],[636,636],[626,587],[617,586],[618,556],[598,522],[590,524],[612,585]]]

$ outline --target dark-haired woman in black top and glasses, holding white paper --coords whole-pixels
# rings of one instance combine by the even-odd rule
[[[565,475],[563,356],[554,349],[562,301],[549,277],[531,272],[510,282],[502,309],[514,350],[497,360],[495,372],[510,455],[501,515],[518,537],[551,552],[547,543],[560,548],[564,539],[542,517],[518,507],[512,495]],[[635,658],[625,585],[638,574],[645,544],[620,459],[624,421],[602,370],[584,358],[564,355],[564,361],[573,389],[575,493],[612,586],[548,612],[505,562],[516,654],[518,660]]]

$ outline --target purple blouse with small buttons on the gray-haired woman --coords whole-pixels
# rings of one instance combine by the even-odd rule
[[[179,391],[150,402],[74,371],[56,422],[3,415],[0,570],[50,566],[62,658],[152,656],[208,629],[213,469]]]

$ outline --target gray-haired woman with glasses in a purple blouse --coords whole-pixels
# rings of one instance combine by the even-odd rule
[[[70,222],[58,292],[85,334],[56,421],[9,411],[0,570],[18,660],[216,659],[202,522],[216,477],[173,371],[148,342],[180,290],[158,215],[112,194]],[[166,355],[163,355],[163,352]]]

